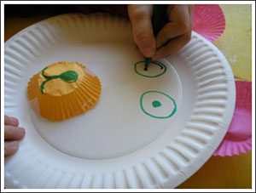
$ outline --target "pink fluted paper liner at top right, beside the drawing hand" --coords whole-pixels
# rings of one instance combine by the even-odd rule
[[[217,4],[195,4],[193,12],[193,31],[212,42],[220,37],[224,30],[224,13]]]

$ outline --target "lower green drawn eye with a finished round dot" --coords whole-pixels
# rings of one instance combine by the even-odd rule
[[[154,90],[142,94],[140,105],[145,114],[160,119],[170,118],[177,111],[176,102],[171,96]]]

